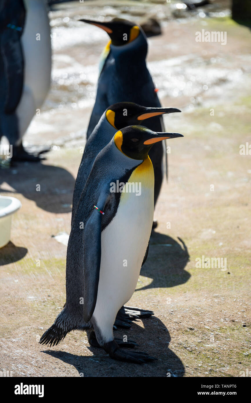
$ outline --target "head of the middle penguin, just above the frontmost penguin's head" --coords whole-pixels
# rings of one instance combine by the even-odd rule
[[[115,129],[139,125],[143,120],[164,113],[180,112],[176,108],[147,108],[133,102],[118,102],[106,110],[106,119]]]

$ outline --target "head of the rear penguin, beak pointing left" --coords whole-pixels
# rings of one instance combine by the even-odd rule
[[[112,21],[100,22],[91,20],[79,20],[87,24],[96,25],[104,29],[111,38],[112,45],[122,46],[133,42],[139,36],[139,25],[119,18],[114,18]]]

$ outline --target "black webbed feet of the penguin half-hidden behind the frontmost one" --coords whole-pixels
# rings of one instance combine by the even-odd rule
[[[116,316],[114,328],[116,329],[116,326],[130,328],[133,320],[137,320],[139,318],[150,318],[153,314],[153,311],[133,308],[130,306],[122,306]]]

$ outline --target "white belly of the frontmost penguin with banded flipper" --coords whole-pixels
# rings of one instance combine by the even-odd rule
[[[141,195],[121,193],[117,213],[101,234],[100,280],[93,317],[106,341],[112,338],[118,310],[135,291],[151,234],[154,216],[152,165],[147,173],[151,183],[141,181]],[[133,182],[135,176],[133,173],[129,182]]]

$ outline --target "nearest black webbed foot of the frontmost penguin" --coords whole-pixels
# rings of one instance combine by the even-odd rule
[[[118,361],[126,361],[134,364],[144,364],[149,361],[156,361],[157,358],[151,357],[143,351],[128,351],[119,347],[115,340],[110,341],[104,346],[104,350],[109,356]]]

